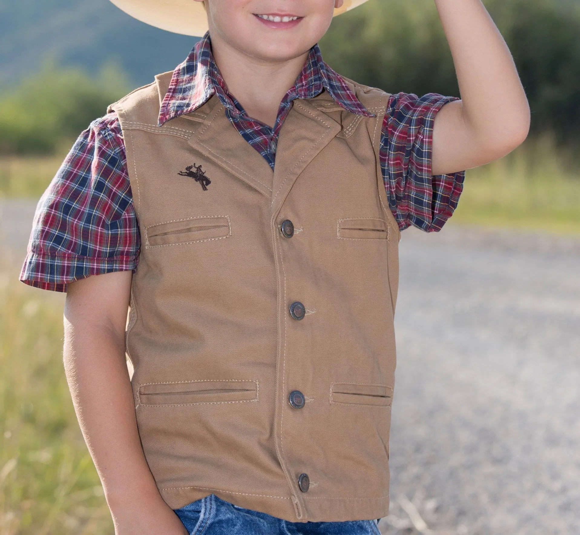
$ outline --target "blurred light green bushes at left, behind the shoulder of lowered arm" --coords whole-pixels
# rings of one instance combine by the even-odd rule
[[[0,96],[0,153],[53,153],[124,95],[126,78],[115,67],[93,80],[78,70],[45,67]]]

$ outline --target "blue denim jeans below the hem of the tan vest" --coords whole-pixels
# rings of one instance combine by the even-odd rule
[[[287,522],[213,494],[175,512],[190,535],[380,535],[376,520]]]

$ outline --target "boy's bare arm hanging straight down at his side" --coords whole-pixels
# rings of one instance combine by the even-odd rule
[[[117,535],[187,534],[165,504],[143,455],[125,362],[131,272],[68,285],[64,367]]]

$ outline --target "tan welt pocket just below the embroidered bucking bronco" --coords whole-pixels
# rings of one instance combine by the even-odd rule
[[[145,227],[145,246],[162,247],[229,238],[229,216],[200,216]]]

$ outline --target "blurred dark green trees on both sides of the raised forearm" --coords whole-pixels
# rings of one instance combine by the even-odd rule
[[[532,108],[532,131],[578,138],[580,5],[484,0],[510,46]],[[434,2],[371,0],[333,20],[322,39],[333,69],[394,93],[459,95]]]

